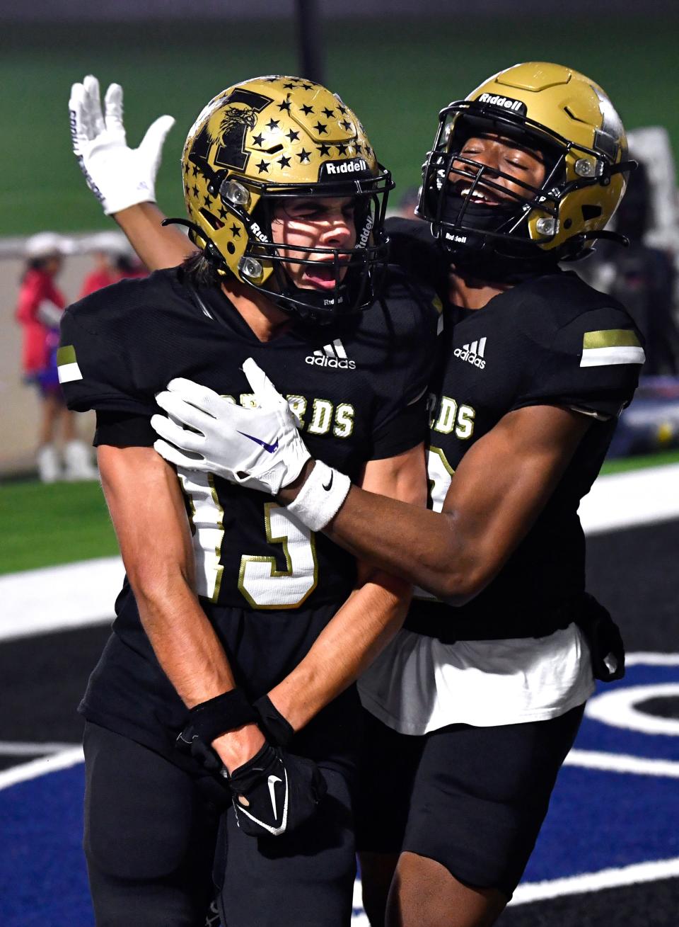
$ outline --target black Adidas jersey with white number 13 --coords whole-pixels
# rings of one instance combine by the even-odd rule
[[[262,343],[219,289],[181,270],[123,281],[70,307],[59,364],[70,409],[161,411],[155,394],[188,377],[234,402],[253,401],[253,357],[302,420],[309,451],[358,481],[363,464],[424,438],[424,393],[441,304],[395,272],[388,298],[334,326],[292,326]],[[421,399],[421,404],[418,401]],[[156,437],[140,443],[152,444]],[[111,442],[112,443],[112,442]],[[353,558],[295,522],[269,496],[180,470],[205,603],[294,609],[340,603]]]

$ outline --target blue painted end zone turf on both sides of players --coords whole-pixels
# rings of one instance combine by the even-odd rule
[[[678,682],[679,667],[634,666],[614,689]],[[610,691],[601,686],[597,693]],[[679,737],[586,717],[575,747],[679,760]],[[83,784],[79,765],[0,791],[2,927],[91,927],[81,846]],[[677,779],[566,766],[523,881],[679,857],[677,820]]]

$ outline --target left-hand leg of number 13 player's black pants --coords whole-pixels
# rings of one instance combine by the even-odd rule
[[[84,850],[96,927],[204,927],[220,812],[167,759],[87,722]]]

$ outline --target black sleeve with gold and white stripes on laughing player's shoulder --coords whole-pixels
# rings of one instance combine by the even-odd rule
[[[600,418],[630,403],[645,360],[642,337],[622,308],[585,311],[562,325],[534,364],[512,408],[563,405]]]

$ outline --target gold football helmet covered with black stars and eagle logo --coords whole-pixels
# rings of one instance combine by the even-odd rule
[[[394,184],[339,96],[296,77],[235,84],[198,116],[182,171],[189,234],[220,273],[317,322],[374,301],[386,266],[384,211]],[[289,257],[273,242],[271,218],[276,204],[292,197],[354,198],[356,246],[295,246]],[[329,254],[334,289],[301,289],[285,273],[288,262],[330,261]]]

